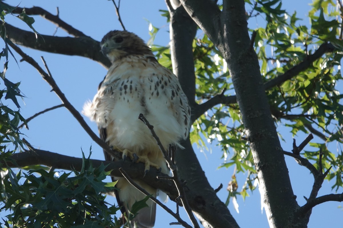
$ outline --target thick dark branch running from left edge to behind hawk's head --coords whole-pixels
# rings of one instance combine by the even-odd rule
[[[13,43],[45,52],[90,58],[107,69],[111,66],[109,59],[100,52],[100,43],[90,37],[73,38],[40,35],[36,39],[33,32],[2,22],[0,26],[5,26],[6,36]]]

